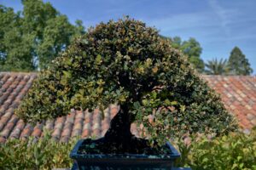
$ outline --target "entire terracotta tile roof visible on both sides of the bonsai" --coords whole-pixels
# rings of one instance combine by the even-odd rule
[[[36,77],[36,73],[0,72],[0,142],[6,139],[27,139],[29,136],[39,138],[44,135],[44,127],[52,131],[53,139],[62,142],[74,136],[101,137],[119,111],[117,105],[109,105],[102,118],[97,109],[92,112],[72,110],[67,116],[32,127],[15,116],[14,111]],[[256,125],[256,77],[202,77],[221,94],[224,105],[237,116],[241,127],[250,129]],[[132,124],[131,132],[140,136],[142,128]]]

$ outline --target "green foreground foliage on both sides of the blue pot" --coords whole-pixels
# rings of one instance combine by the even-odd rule
[[[0,144],[0,169],[52,169],[71,167],[68,157],[77,139],[67,144],[50,140],[49,133],[43,138],[26,141],[9,139]],[[247,135],[230,133],[215,139],[192,139],[190,144],[176,142],[181,152],[177,167],[195,170],[253,170],[256,169],[256,130]]]

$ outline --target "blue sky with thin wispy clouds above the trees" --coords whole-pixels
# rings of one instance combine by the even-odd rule
[[[241,48],[256,72],[255,0],[44,0],[69,20],[84,26],[116,20],[123,15],[155,26],[167,37],[195,37],[203,48],[201,58],[227,59],[235,46]],[[0,4],[21,10],[19,0]]]

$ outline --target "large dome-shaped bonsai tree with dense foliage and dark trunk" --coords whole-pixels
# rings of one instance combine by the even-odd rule
[[[70,109],[119,105],[105,144],[131,151],[131,122],[143,123],[156,145],[184,133],[228,133],[236,123],[188,59],[141,21],[110,20],[90,28],[42,71],[16,114],[26,122]],[[150,117],[148,121],[148,117]],[[152,143],[150,143],[152,144]]]

